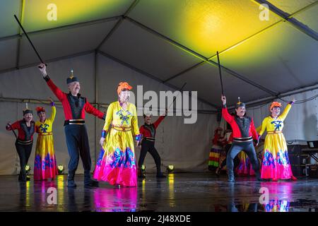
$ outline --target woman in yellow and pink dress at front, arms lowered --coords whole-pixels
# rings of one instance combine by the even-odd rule
[[[105,125],[100,138],[100,156],[96,163],[94,179],[112,185],[137,186],[134,138],[139,145],[136,106],[128,102],[131,86],[122,82],[117,88],[118,101],[107,109]]]

